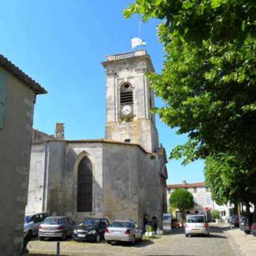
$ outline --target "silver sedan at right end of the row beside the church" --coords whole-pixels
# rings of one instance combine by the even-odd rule
[[[143,232],[133,220],[115,220],[105,232],[108,244],[126,241],[134,245],[136,240],[142,240]]]

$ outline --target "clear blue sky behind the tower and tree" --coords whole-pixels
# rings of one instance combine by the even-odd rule
[[[56,122],[65,123],[66,139],[104,137],[105,56],[130,51],[130,37],[138,36],[138,19],[124,19],[127,0],[8,0],[0,2],[0,53],[41,84],[48,94],[38,96],[34,128],[54,133]],[[151,20],[140,26],[156,72],[164,52]],[[156,99],[161,106],[160,99]],[[157,118],[160,142],[170,149],[185,135]],[[168,184],[204,180],[204,163],[167,164]]]

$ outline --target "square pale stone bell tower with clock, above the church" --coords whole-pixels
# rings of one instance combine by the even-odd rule
[[[114,54],[102,62],[106,72],[106,134],[121,142],[140,144],[155,152],[159,138],[155,127],[154,92],[145,72],[154,67],[145,50]]]

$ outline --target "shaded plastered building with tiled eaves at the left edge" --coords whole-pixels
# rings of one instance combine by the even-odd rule
[[[46,91],[0,55],[0,255],[21,255],[34,104]]]

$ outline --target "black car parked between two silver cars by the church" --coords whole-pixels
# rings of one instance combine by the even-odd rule
[[[101,218],[86,218],[74,229],[73,239],[76,241],[96,241],[104,239],[104,233],[109,226],[109,220]]]

